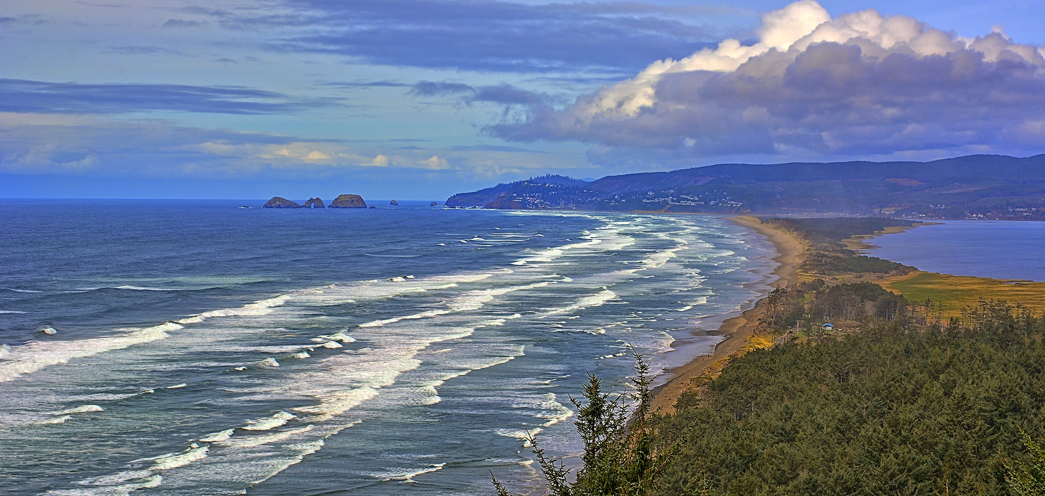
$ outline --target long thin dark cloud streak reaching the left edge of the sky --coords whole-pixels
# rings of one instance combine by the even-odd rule
[[[143,111],[279,114],[333,104],[239,87],[0,79],[0,112],[118,114]]]

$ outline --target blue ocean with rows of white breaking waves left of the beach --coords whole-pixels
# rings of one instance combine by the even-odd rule
[[[0,493],[524,492],[587,373],[709,352],[775,265],[715,216],[261,204],[0,202]]]

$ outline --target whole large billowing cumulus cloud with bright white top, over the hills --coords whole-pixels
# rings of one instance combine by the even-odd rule
[[[756,43],[657,61],[487,132],[591,142],[602,156],[1013,151],[1045,144],[1043,51],[1000,29],[966,39],[875,10],[831,18],[802,0],[764,15]]]

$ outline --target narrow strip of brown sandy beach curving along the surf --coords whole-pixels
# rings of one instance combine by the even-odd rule
[[[773,270],[777,276],[776,281],[772,283],[773,287],[784,287],[797,281],[798,265],[806,250],[802,240],[789,232],[765,226],[754,217],[738,216],[728,219],[751,228],[768,238],[776,247],[780,255],[773,260],[780,263],[780,266]],[[673,377],[653,391],[653,409],[660,409],[661,412],[674,410],[675,402],[692,386],[695,379],[717,373],[726,364],[728,357],[751,346],[758,347],[749,344],[749,340],[758,328],[759,315],[762,314],[764,304],[765,298],[759,300],[753,308],[722,323],[716,333],[725,338],[715,347],[715,354],[696,356],[687,364],[669,371]]]

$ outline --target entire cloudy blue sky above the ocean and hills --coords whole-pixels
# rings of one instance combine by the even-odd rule
[[[0,197],[1045,152],[1045,0],[4,0]],[[329,200],[329,199],[327,199]]]

